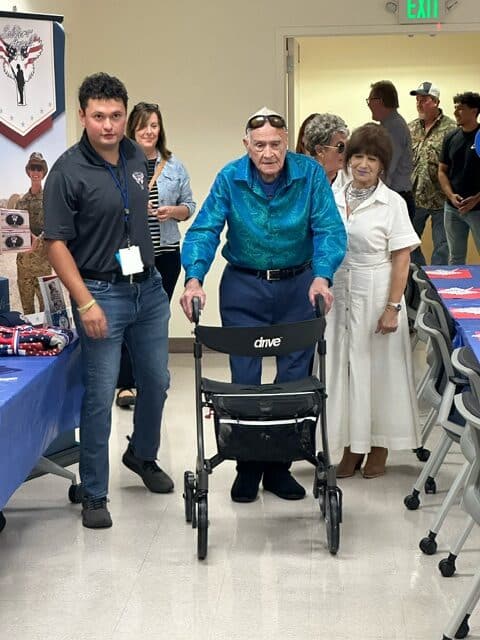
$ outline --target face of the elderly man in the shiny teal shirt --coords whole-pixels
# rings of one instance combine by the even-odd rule
[[[247,153],[257,167],[262,180],[273,182],[278,177],[287,155],[287,132],[268,122],[252,129],[243,139]]]

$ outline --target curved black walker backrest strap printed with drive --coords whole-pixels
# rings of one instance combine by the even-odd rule
[[[325,317],[259,327],[197,325],[198,342],[213,351],[236,356],[283,356],[314,346],[323,339]]]

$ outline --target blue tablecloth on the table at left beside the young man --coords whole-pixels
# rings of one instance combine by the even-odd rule
[[[53,440],[78,426],[82,395],[78,340],[58,356],[0,358],[0,510]]]

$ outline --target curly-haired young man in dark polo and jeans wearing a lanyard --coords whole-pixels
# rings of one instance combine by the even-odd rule
[[[98,73],[84,80],[84,133],[52,167],[44,193],[48,256],[70,292],[82,348],[80,477],[82,520],[89,528],[112,525],[106,505],[108,439],[124,339],[138,396],[123,462],[151,491],[173,489],[155,462],[169,386],[170,310],[153,266],[146,160],[124,137],[127,99],[117,78]]]

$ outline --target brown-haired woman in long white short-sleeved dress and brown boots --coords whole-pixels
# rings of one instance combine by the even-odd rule
[[[345,153],[352,180],[335,199],[348,251],[335,274],[327,318],[327,412],[337,477],[385,473],[388,449],[418,446],[418,410],[403,291],[420,241],[404,200],[381,180],[392,147],[380,125],[353,132]]]

